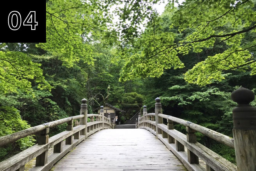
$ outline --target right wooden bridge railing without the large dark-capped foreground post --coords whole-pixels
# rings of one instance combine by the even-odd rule
[[[206,127],[194,124],[184,119],[162,114],[162,105],[159,98],[156,98],[155,113],[147,113],[146,106],[143,109],[143,116],[139,119],[136,128],[144,128],[156,135],[169,150],[171,150],[188,171],[236,171],[236,166],[216,154],[209,148],[196,141],[195,132],[198,131],[213,140],[234,148],[233,138],[218,133]],[[163,118],[168,124],[163,124]],[[173,122],[186,126],[187,136],[174,129]],[[187,147],[187,152],[185,152]],[[199,158],[206,163],[202,169]]]

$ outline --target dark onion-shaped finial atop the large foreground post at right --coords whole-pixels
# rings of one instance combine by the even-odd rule
[[[254,93],[251,90],[242,86],[231,93],[231,99],[238,105],[249,105],[254,100],[254,97]]]

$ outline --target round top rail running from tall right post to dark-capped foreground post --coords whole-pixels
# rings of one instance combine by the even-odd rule
[[[225,144],[229,147],[235,148],[233,138],[231,138],[229,136],[226,136],[224,134],[218,133],[217,131],[213,131],[212,129],[208,129],[206,127],[203,127],[203,126],[194,124],[192,122],[189,122],[187,120],[176,118],[176,117],[173,117],[173,116],[164,115],[164,114],[161,114],[161,113],[159,113],[158,116],[162,117],[162,118],[165,118],[165,119],[172,120],[173,122],[179,123],[181,125],[188,126],[191,129],[194,129],[194,130],[198,131],[199,133],[202,133],[202,134],[212,138],[213,140],[216,140],[216,141],[218,141],[222,144]]]

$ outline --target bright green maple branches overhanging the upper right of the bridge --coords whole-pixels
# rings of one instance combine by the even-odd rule
[[[202,58],[185,73],[189,83],[219,82],[230,70],[250,70],[254,75],[255,4],[255,0],[187,0],[178,8],[170,2],[161,16],[152,12],[146,30],[120,53],[125,60],[120,81],[159,78],[166,69],[183,68],[183,56],[203,51]]]

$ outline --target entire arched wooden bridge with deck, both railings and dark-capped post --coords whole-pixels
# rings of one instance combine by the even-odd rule
[[[138,129],[113,129],[103,108],[100,115],[87,114],[87,100],[82,99],[80,115],[0,137],[3,146],[40,134],[38,144],[1,162],[0,171],[27,170],[26,164],[34,158],[31,171],[256,171],[256,108],[249,105],[254,93],[240,87],[231,98],[238,103],[233,109],[233,138],[163,114],[159,98],[155,99],[155,113],[147,113],[144,106]],[[88,117],[91,121],[87,123]],[[174,122],[186,126],[187,135],[175,130]],[[49,128],[63,123],[68,124],[67,130],[49,138]],[[235,148],[237,164],[198,143],[196,131]]]

